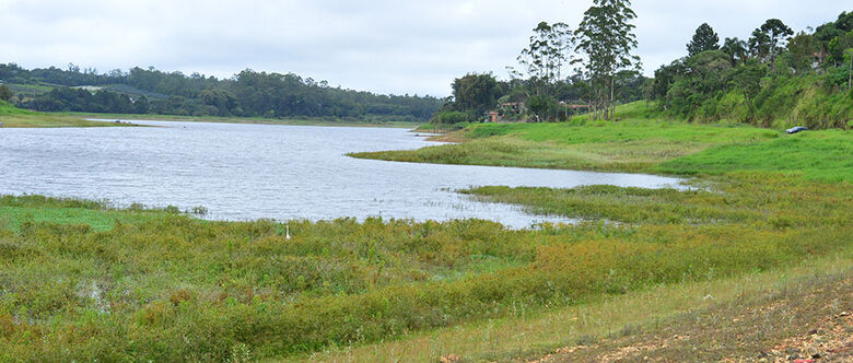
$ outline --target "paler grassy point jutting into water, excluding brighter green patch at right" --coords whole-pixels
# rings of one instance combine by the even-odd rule
[[[563,124],[483,124],[449,137],[465,140],[408,151],[352,153],[387,161],[659,173],[661,161],[720,144],[757,143],[782,138],[779,131],[744,126],[690,125],[636,116],[636,104],[620,109],[619,122],[581,118]],[[634,118],[628,118],[628,117]]]

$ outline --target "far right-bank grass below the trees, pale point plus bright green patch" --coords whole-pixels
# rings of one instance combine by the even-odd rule
[[[782,131],[655,118],[643,103],[619,108],[617,122],[484,124],[452,137],[461,143],[351,156],[414,163],[700,175],[733,169],[799,171],[853,182],[853,132]],[[650,118],[646,118],[650,117]]]

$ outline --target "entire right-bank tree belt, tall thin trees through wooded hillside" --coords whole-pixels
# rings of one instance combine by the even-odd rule
[[[620,103],[647,99],[670,117],[773,126],[853,127],[853,12],[795,33],[779,19],[745,39],[701,24],[687,55],[640,74],[630,0],[595,0],[576,28],[539,23],[510,80],[492,73],[457,78],[436,124],[471,122],[498,112],[504,120],[560,121],[576,113],[614,119]],[[574,104],[574,106],[572,106]]]

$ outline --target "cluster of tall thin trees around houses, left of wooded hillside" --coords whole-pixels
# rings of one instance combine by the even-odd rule
[[[469,73],[453,83],[453,96],[434,122],[476,121],[486,110],[504,119],[559,121],[583,112],[612,119],[619,102],[642,99],[640,58],[632,54],[636,14],[630,0],[594,0],[582,22],[539,23],[509,81],[492,73]]]

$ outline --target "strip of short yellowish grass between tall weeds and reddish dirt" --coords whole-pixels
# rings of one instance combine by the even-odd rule
[[[654,361],[718,361],[724,358],[751,358],[761,351],[769,351],[774,340],[786,338],[793,329],[803,330],[814,323],[815,312],[797,312],[804,306],[798,296],[807,296],[815,288],[837,285],[840,281],[850,283],[853,279],[853,259],[834,257],[828,259],[804,260],[795,266],[772,271],[746,273],[736,278],[713,279],[679,284],[655,285],[632,291],[623,295],[609,296],[584,304],[554,308],[548,313],[522,312],[516,316],[493,318],[460,325],[454,329],[439,329],[412,333],[399,340],[379,344],[340,347],[328,349],[309,356],[295,356],[296,360],[318,362],[437,362],[441,358],[456,356],[464,362],[528,361],[529,358],[550,358],[547,361],[603,361],[596,353],[619,351],[628,343],[652,342],[655,335],[674,335],[715,339],[716,343],[701,347],[704,356],[655,356]],[[846,285],[849,288],[849,284]],[[850,290],[846,290],[848,292]],[[710,296],[710,297],[709,297]],[[767,301],[784,296],[785,305],[778,311],[788,309],[788,314],[779,320],[761,321],[766,324],[737,324],[732,321],[738,314],[752,307],[763,307]],[[821,296],[817,302],[829,302],[844,295]],[[841,305],[843,306],[843,305]],[[631,312],[626,314],[626,312]],[[785,324],[787,318],[796,316],[801,324]],[[731,317],[726,321],[726,317]],[[762,317],[758,314],[757,317]],[[813,320],[807,320],[811,318]],[[766,340],[753,342],[739,350],[732,349],[743,342],[731,330],[720,329],[720,325],[697,329],[691,324],[714,319],[721,324],[752,332],[764,333]],[[740,321],[744,319],[741,318]],[[770,324],[768,324],[770,323]],[[759,327],[759,329],[756,329]],[[810,329],[810,327],[808,328]],[[808,331],[808,330],[806,330]],[[774,333],[775,332],[775,333]],[[780,337],[781,336],[781,337]],[[626,341],[628,339],[632,339]],[[693,342],[691,342],[693,343]],[[586,350],[595,347],[594,350]],[[690,353],[699,344],[670,344]],[[725,350],[721,348],[727,348]],[[556,352],[560,352],[553,354]],[[669,352],[657,352],[661,355]],[[711,355],[714,354],[714,355]],[[642,358],[642,356],[640,356]]]

